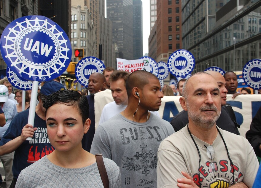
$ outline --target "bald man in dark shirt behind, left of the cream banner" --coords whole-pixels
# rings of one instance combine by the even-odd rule
[[[89,103],[89,117],[91,120],[90,129],[82,138],[82,148],[90,152],[95,133],[95,114],[94,114],[94,94],[99,91],[104,91],[106,87],[106,79],[103,74],[94,72],[89,77],[88,90],[90,95],[87,95]]]

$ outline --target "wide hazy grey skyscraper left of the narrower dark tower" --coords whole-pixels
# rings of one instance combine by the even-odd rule
[[[133,59],[132,0],[107,0],[107,18],[112,20],[116,58]]]

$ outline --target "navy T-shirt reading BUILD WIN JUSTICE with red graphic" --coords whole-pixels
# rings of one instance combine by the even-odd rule
[[[29,109],[18,113],[11,121],[9,128],[0,141],[0,146],[20,136],[23,127],[28,123]],[[18,178],[20,172],[54,151],[47,136],[46,121],[40,118],[36,113],[34,117],[34,137],[31,141],[24,141],[16,150],[13,162],[13,176]]]

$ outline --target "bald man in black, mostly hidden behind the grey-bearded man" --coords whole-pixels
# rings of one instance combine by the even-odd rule
[[[218,118],[216,124],[219,126],[219,128],[223,130],[227,130],[231,133],[240,135],[238,131],[239,125],[236,122],[234,111],[230,106],[230,104],[226,104],[227,89],[225,87],[226,81],[224,77],[222,76],[222,74],[215,71],[206,71],[206,72],[217,80],[217,84],[220,90],[222,108],[221,108],[220,117]],[[183,110],[178,114],[176,114],[170,123],[173,126],[174,130],[177,132],[178,130],[185,127],[188,122],[189,120],[188,120],[187,111]]]

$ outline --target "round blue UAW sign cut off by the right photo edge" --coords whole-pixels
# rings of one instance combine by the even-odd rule
[[[261,59],[252,59],[247,62],[242,72],[246,85],[254,90],[261,89]]]

